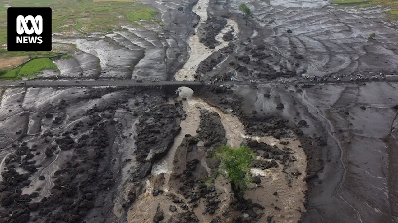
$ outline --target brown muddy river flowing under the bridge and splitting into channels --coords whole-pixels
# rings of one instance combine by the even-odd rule
[[[193,6],[193,12],[200,16],[199,25],[195,28],[195,31],[200,26],[200,23],[203,23],[207,19],[207,7],[208,0],[199,0],[195,6]],[[233,29],[232,34],[236,37],[239,32],[238,25],[235,23],[233,19],[227,19],[226,27],[216,36],[216,39],[219,40],[220,44],[215,47],[215,49],[209,49],[204,46],[201,42],[199,42],[199,37],[197,35],[193,35],[189,38],[189,58],[183,65],[183,67],[176,73],[175,79],[177,81],[181,80],[194,80],[195,71],[199,63],[205,60],[208,56],[210,56],[213,52],[220,50],[227,46],[228,42],[222,40],[222,35],[226,32]],[[168,186],[170,181],[170,175],[173,169],[173,160],[175,159],[175,154],[178,146],[181,144],[182,139],[186,134],[196,136],[197,129],[200,123],[200,113],[203,110],[207,110],[209,112],[215,112],[220,115],[220,120],[225,130],[227,144],[230,144],[233,147],[239,147],[244,138],[252,138],[254,140],[258,140],[259,142],[265,142],[270,145],[280,145],[279,140],[273,138],[271,136],[267,137],[252,137],[246,136],[244,127],[239,119],[231,114],[224,113],[218,108],[210,106],[201,98],[195,97],[193,95],[193,91],[187,87],[180,87],[178,89],[179,97],[176,100],[181,100],[181,98],[186,98],[183,100],[183,109],[186,113],[185,120],[181,121],[181,133],[174,139],[174,144],[172,148],[166,155],[166,157],[157,161],[152,167],[152,174],[150,178],[154,178],[157,175],[164,175],[165,181],[163,189],[165,192],[169,192],[170,188]],[[292,139],[291,144],[289,144],[289,148],[291,148],[297,157],[296,168],[301,173],[305,173],[306,169],[306,158],[302,148],[298,147],[297,140]],[[283,146],[279,146],[283,147]],[[245,197],[252,199],[254,202],[257,202],[260,205],[263,205],[266,208],[265,214],[268,216],[274,216],[275,219],[280,219],[284,222],[296,222],[300,218],[300,212],[297,211],[299,207],[300,210],[304,211],[305,208],[302,206],[302,202],[304,202],[304,193],[306,190],[306,185],[304,182],[300,182],[297,180],[293,187],[288,186],[285,181],[285,173],[282,171],[282,166],[274,169],[252,169],[252,173],[254,175],[258,175],[262,179],[262,186],[257,188],[256,186],[252,187],[249,190]],[[209,173],[210,174],[210,173]],[[300,176],[300,179],[304,178],[304,175]],[[217,183],[216,183],[217,184]],[[152,188],[151,181],[148,179],[146,181],[147,192],[142,194],[136,205],[133,206],[133,209],[128,213],[128,221],[129,223],[139,223],[139,222],[151,222],[152,219],[150,217],[156,213],[157,204],[161,204],[162,209],[165,211],[166,219],[171,216],[171,212],[168,211],[168,207],[172,204],[170,200],[168,200],[164,195],[158,195],[156,197],[152,196]],[[230,193],[230,188],[220,187],[220,190],[225,190]],[[271,201],[269,196],[273,196],[272,194],[278,191],[280,194],[277,201]],[[170,191],[171,192],[171,191]],[[224,202],[228,204],[228,199]],[[272,205],[271,205],[272,203]],[[279,206],[282,208],[282,211],[276,211],[271,206]],[[228,206],[228,205],[226,205]],[[202,208],[202,209],[201,209]],[[147,211],[146,210],[151,210]],[[222,211],[223,209],[221,209]],[[209,223],[214,216],[203,215],[203,206],[199,206],[195,208],[195,213],[197,213],[197,217],[199,218],[199,222]],[[245,215],[246,217],[246,215]],[[265,218],[261,219],[261,222],[266,222]]]

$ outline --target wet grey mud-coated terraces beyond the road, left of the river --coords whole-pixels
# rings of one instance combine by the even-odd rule
[[[76,77],[74,73],[82,72],[80,77],[94,79],[172,79],[188,57],[187,38],[199,21],[191,12],[196,1],[142,3],[160,12],[162,25],[118,24],[121,29],[85,38],[54,35],[53,41],[76,44],[79,51],[90,54],[83,65],[78,59],[60,61],[61,76]]]

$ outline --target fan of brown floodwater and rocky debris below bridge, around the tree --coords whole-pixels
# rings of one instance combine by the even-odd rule
[[[152,167],[145,182],[147,190],[128,212],[128,222],[152,222],[152,216],[154,220],[162,216],[165,222],[300,218],[305,210],[306,161],[293,131],[276,130],[288,127],[287,121],[264,121],[272,128],[264,129],[261,135],[270,136],[251,138],[244,135],[244,126],[230,112],[194,96],[176,99],[182,101],[186,111],[181,133],[169,154]],[[244,144],[256,152],[257,158],[251,164],[254,182],[244,196],[246,201],[236,203],[225,173],[218,168],[219,160],[212,156],[217,146],[224,144]]]

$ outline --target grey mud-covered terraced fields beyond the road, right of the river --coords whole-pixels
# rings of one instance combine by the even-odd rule
[[[251,1],[246,3],[252,10],[246,26],[238,10],[240,3],[210,3],[209,15],[233,18],[240,32],[228,59],[206,76],[227,73],[248,80],[396,70],[396,21],[382,13],[383,7]],[[376,37],[368,39],[371,33]]]

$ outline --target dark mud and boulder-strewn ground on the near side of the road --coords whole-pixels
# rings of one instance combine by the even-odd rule
[[[160,212],[168,222],[246,221],[250,217],[279,222],[285,217],[279,212],[287,209],[292,216],[304,212],[302,222],[333,222],[336,218],[391,222],[396,213],[396,124],[392,123],[398,104],[396,87],[375,82],[302,89],[288,85],[213,87],[198,92],[220,111],[236,115],[246,134],[269,135],[279,142],[275,147],[270,141],[242,141],[260,157],[252,168],[275,171],[280,166],[288,177],[271,187],[275,191],[261,192],[269,193],[264,202],[256,198],[273,181],[267,182],[269,173],[254,170],[258,178],[250,188],[258,192],[251,198],[249,191],[251,202],[237,206],[230,205],[228,182],[208,176],[217,160],[206,154],[229,137],[219,114],[201,112],[196,138],[186,135],[174,153],[168,185],[164,174],[153,176],[153,183],[148,183],[142,180],[150,174],[152,163],[172,147],[179,123],[185,119],[182,105],[187,101],[170,102],[162,93],[128,88],[4,89],[0,109],[4,129],[2,219],[123,222],[127,216],[139,219],[128,211],[132,204],[139,206],[140,196],[145,195],[150,197],[150,207],[156,204],[147,212],[152,215],[143,216],[149,217],[148,222],[162,216]],[[392,136],[387,136],[391,128]],[[300,154],[291,154],[295,150],[289,149],[295,145],[294,135],[306,154],[306,173],[298,170]],[[303,191],[306,200],[291,204],[282,198],[286,196],[283,185],[300,188],[297,183],[303,181],[308,183],[308,190]],[[152,187],[144,190],[146,185]]]

